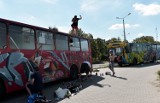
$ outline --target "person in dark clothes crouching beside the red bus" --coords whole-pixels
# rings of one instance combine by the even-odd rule
[[[29,95],[34,93],[42,93],[43,82],[42,76],[39,73],[39,67],[34,67],[34,73],[31,75],[31,79],[26,83],[26,90]]]

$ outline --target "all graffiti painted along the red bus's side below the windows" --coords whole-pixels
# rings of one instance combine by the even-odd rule
[[[86,54],[79,54],[76,52],[75,55],[70,56],[70,59],[72,59],[71,61],[74,61],[74,58],[78,58],[78,61],[89,59],[89,57],[85,57]],[[24,86],[23,77],[21,75],[22,72],[29,80],[31,74],[34,72],[34,65],[36,65],[41,70],[44,83],[54,81],[57,78],[64,77],[65,71],[68,73],[70,72],[68,58],[66,52],[60,52],[59,55],[57,55],[53,51],[46,51],[43,53],[36,51],[29,59],[25,57],[22,52],[0,54],[0,77],[8,81],[8,84],[14,82],[18,86]],[[79,66],[80,64],[81,62],[79,62]],[[22,65],[22,68],[20,68],[21,73],[16,70],[16,67],[19,65]]]

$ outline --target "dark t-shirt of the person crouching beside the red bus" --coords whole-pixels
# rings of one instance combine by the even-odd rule
[[[33,83],[33,87],[36,90],[42,90],[43,89],[43,81],[42,81],[42,76],[38,73],[38,72],[34,72],[31,75],[31,79],[34,78],[34,83]]]

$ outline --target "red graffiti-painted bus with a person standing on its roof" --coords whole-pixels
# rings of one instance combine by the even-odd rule
[[[0,18],[0,95],[24,89],[35,63],[47,83],[77,78],[84,61],[88,39]]]

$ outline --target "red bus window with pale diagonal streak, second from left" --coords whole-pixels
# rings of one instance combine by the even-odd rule
[[[35,49],[33,29],[9,25],[9,35],[12,49]]]

